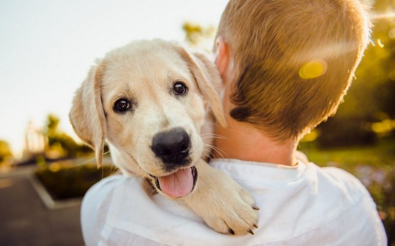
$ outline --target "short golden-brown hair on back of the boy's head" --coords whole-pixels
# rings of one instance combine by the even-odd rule
[[[217,36],[234,59],[231,117],[299,139],[337,110],[369,27],[358,0],[230,0]]]

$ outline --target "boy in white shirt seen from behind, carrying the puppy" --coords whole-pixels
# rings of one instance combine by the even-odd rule
[[[229,125],[216,126],[224,139],[215,145],[229,159],[212,165],[254,196],[259,229],[216,233],[181,203],[149,198],[140,180],[110,177],[84,199],[86,244],[386,245],[376,204],[356,178],[296,156],[301,137],[337,109],[369,25],[358,0],[231,0],[214,48]]]

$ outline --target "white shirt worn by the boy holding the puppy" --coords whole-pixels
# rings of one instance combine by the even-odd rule
[[[150,195],[142,179],[121,175],[85,195],[84,240],[90,245],[387,245],[376,204],[361,182],[338,168],[215,159],[215,168],[251,192],[255,235],[215,232],[180,201]]]

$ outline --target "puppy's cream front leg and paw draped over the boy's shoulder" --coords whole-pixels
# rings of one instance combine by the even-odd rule
[[[253,234],[258,213],[252,196],[232,178],[208,165],[196,163],[195,191],[182,199],[214,230],[230,234]]]

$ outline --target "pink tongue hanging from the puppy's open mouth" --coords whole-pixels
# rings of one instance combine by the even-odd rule
[[[161,190],[170,197],[186,196],[193,188],[193,177],[190,168],[180,169],[170,175],[158,177],[158,180]]]

